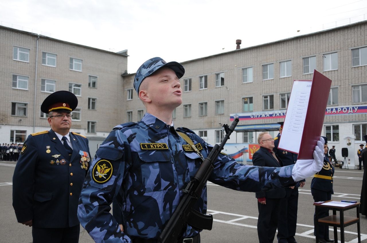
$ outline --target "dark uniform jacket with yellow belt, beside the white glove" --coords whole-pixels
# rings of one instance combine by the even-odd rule
[[[331,194],[333,194],[333,175],[334,167],[330,163],[329,159],[324,156],[323,168],[312,178],[311,188],[320,191],[331,191]]]

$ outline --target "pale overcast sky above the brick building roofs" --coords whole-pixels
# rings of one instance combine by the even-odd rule
[[[2,0],[0,25],[147,59],[187,61],[367,19],[367,0]],[[299,32],[297,32],[299,30]],[[122,72],[124,70],[121,70]]]

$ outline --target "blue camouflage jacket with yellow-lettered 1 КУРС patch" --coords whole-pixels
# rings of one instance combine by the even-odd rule
[[[207,157],[211,145],[187,128],[177,131],[188,135]],[[158,238],[202,161],[185,145],[173,126],[149,113],[138,123],[121,124],[110,132],[97,150],[79,199],[80,223],[95,242]],[[220,154],[209,180],[239,191],[266,191],[294,184],[292,168],[240,165]],[[121,207],[124,232],[109,213],[114,197]],[[204,187],[196,210],[206,213],[206,209]],[[187,225],[183,237],[197,233]]]

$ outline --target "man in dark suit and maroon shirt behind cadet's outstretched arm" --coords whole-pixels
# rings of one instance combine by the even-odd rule
[[[252,163],[261,167],[281,167],[281,160],[273,152],[274,139],[268,132],[262,132],[257,138],[260,149],[252,156]],[[273,242],[278,225],[280,199],[286,197],[286,190],[279,188],[271,191],[256,192],[259,217],[257,233],[259,243]]]

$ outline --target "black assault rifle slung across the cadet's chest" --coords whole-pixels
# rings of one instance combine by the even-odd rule
[[[183,232],[186,230],[186,224],[197,229],[211,230],[213,216],[211,214],[202,214],[193,208],[197,199],[200,198],[201,192],[213,171],[214,162],[217,160],[219,153],[223,150],[230,134],[235,130],[238,122],[239,119],[235,118],[229,127],[227,124],[223,125],[226,132],[224,139],[219,145],[216,144],[213,147],[208,157],[200,165],[195,176],[190,180],[186,188],[182,190],[182,199],[175,209],[172,217],[168,220],[166,227],[164,227],[160,234],[158,238],[159,243],[177,243],[178,240],[182,238]]]

